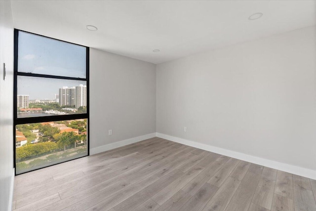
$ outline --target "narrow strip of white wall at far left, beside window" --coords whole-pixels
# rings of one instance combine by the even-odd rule
[[[3,81],[3,63],[6,79]],[[0,1],[0,210],[11,209],[13,171],[13,21],[10,1]]]

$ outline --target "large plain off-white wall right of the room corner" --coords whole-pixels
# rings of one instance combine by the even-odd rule
[[[158,64],[157,132],[316,172],[315,73],[316,27]]]

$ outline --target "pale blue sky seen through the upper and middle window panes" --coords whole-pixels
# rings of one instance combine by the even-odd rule
[[[86,48],[26,32],[19,32],[18,71],[85,78]],[[29,99],[54,99],[63,86],[86,85],[85,81],[18,76],[18,94]]]

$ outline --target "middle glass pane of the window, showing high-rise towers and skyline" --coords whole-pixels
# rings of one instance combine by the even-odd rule
[[[85,81],[17,77],[17,117],[42,117],[87,112]]]

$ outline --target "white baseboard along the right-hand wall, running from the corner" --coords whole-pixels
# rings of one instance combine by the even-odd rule
[[[225,155],[225,156],[229,156],[232,158],[236,158],[242,161],[247,161],[249,163],[254,163],[254,164],[258,164],[261,166],[265,166],[265,167],[269,167],[272,169],[277,169],[277,170],[281,170],[281,171],[286,171],[289,173],[293,173],[293,174],[297,174],[300,176],[304,176],[304,177],[308,177],[311,179],[316,179],[316,171],[312,170],[312,169],[305,169],[302,167],[297,167],[297,166],[293,166],[293,165],[289,165],[289,164],[284,164],[284,163],[280,163],[277,161],[272,161],[272,160],[268,160],[265,158],[259,158],[259,157],[255,157],[252,155],[247,155],[247,154],[243,154],[240,152],[235,152],[235,151],[231,151],[231,150],[227,150],[227,149],[223,149],[223,148],[219,148],[219,147],[214,147],[214,146],[210,146],[210,145],[206,145],[206,144],[202,144],[202,143],[198,143],[195,141],[190,141],[190,140],[186,140],[183,138],[178,138],[178,137],[174,137],[171,135],[166,135],[166,134],[162,134],[157,132],[156,136],[159,138],[164,138],[170,141],[174,141],[177,143],[181,143],[181,144],[185,144],[188,146],[192,146],[198,149],[202,149],[202,150],[206,150],[209,152],[214,152],[217,154],[221,154],[221,155]]]

